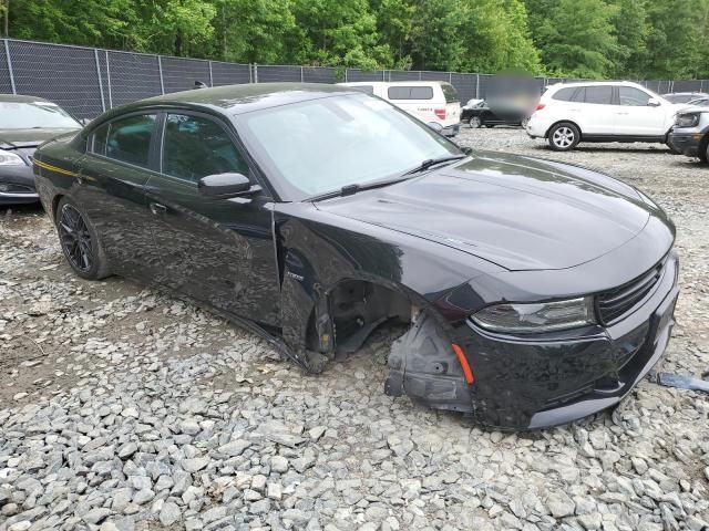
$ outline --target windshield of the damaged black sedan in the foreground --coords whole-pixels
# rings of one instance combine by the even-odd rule
[[[265,108],[237,122],[285,200],[394,178],[423,160],[461,154],[425,124],[360,94]]]

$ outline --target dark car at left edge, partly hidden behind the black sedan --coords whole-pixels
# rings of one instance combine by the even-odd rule
[[[81,128],[41,97],[0,94],[0,205],[37,202],[32,154],[48,138]]]

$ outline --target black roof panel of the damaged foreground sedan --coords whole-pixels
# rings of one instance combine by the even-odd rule
[[[329,97],[336,94],[361,94],[341,85],[318,83],[247,83],[176,92],[150,97],[115,108],[111,114],[137,111],[142,107],[207,107],[222,114],[242,114],[260,108]]]

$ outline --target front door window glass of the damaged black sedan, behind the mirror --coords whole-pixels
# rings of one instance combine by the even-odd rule
[[[222,126],[199,116],[167,115],[163,174],[197,183],[230,171],[248,175],[248,166]]]

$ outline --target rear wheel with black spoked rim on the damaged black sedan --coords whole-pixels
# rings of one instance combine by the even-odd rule
[[[111,274],[96,230],[79,205],[68,197],[56,206],[56,232],[64,258],[79,277],[101,280]]]

